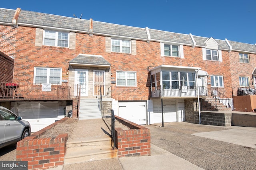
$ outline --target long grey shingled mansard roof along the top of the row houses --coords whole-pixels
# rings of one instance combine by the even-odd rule
[[[0,24],[14,25],[12,19],[14,18],[16,10],[9,10],[0,8]],[[17,21],[18,25],[42,27],[49,29],[62,29],[73,32],[89,33],[90,20],[71,18],[66,16],[57,16],[52,14],[44,14],[40,12],[31,12],[21,10]],[[100,21],[92,21],[92,34],[103,35],[116,38],[136,39],[142,41],[156,41],[164,43],[176,43],[188,45],[193,47],[206,47],[206,40],[208,37],[200,37],[196,35],[188,35],[181,33],[173,33],[168,31],[161,31],[156,29],[131,27],[126,25],[118,25],[113,23],[105,23]],[[248,53],[256,53],[256,45],[240,43],[236,41],[225,41],[214,39],[219,49],[230,51],[232,46],[233,51],[242,51]],[[229,43],[229,44],[228,44]]]

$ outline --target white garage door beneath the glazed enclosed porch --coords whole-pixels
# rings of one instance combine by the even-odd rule
[[[154,123],[162,122],[161,100],[153,101]],[[164,122],[177,121],[176,100],[163,100]]]

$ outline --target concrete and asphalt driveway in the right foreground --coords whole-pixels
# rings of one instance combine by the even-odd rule
[[[186,122],[145,125],[151,143],[209,170],[254,169],[256,128],[219,127]]]

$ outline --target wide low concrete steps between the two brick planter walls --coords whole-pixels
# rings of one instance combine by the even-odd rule
[[[68,139],[64,164],[117,158],[117,151],[111,147],[108,136]]]

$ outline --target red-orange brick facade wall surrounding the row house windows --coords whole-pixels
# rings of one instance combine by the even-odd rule
[[[13,30],[11,26],[1,27],[2,29]],[[112,98],[115,100],[148,100],[150,98],[150,72],[149,68],[159,66],[160,64],[175,66],[194,66],[202,67],[208,74],[222,75],[224,78],[224,87],[219,90],[226,96],[231,96],[230,62],[228,52],[222,51],[223,62],[204,61],[202,57],[202,48],[184,46],[184,58],[162,57],[160,56],[160,43],[150,41],[136,41],[136,55],[124,53],[106,53],[105,37],[88,34],[76,33],[76,49],[62,47],[35,46],[36,28],[22,27],[14,29],[16,35],[16,56],[14,68],[14,81],[33,82],[34,66],[43,67],[62,67],[62,79],[68,79],[66,70],[69,67],[69,61],[78,54],[102,55],[111,63],[110,72],[113,73],[111,80],[116,80],[116,71],[136,71],[136,87],[117,87],[112,84]],[[4,31],[4,30],[3,30]],[[10,32],[9,31],[9,32]],[[2,39],[0,39],[2,40]],[[10,45],[4,41],[4,52],[11,51],[6,49]],[[13,47],[10,47],[13,48]],[[8,52],[7,54],[9,54]],[[210,80],[210,78],[208,79]]]

